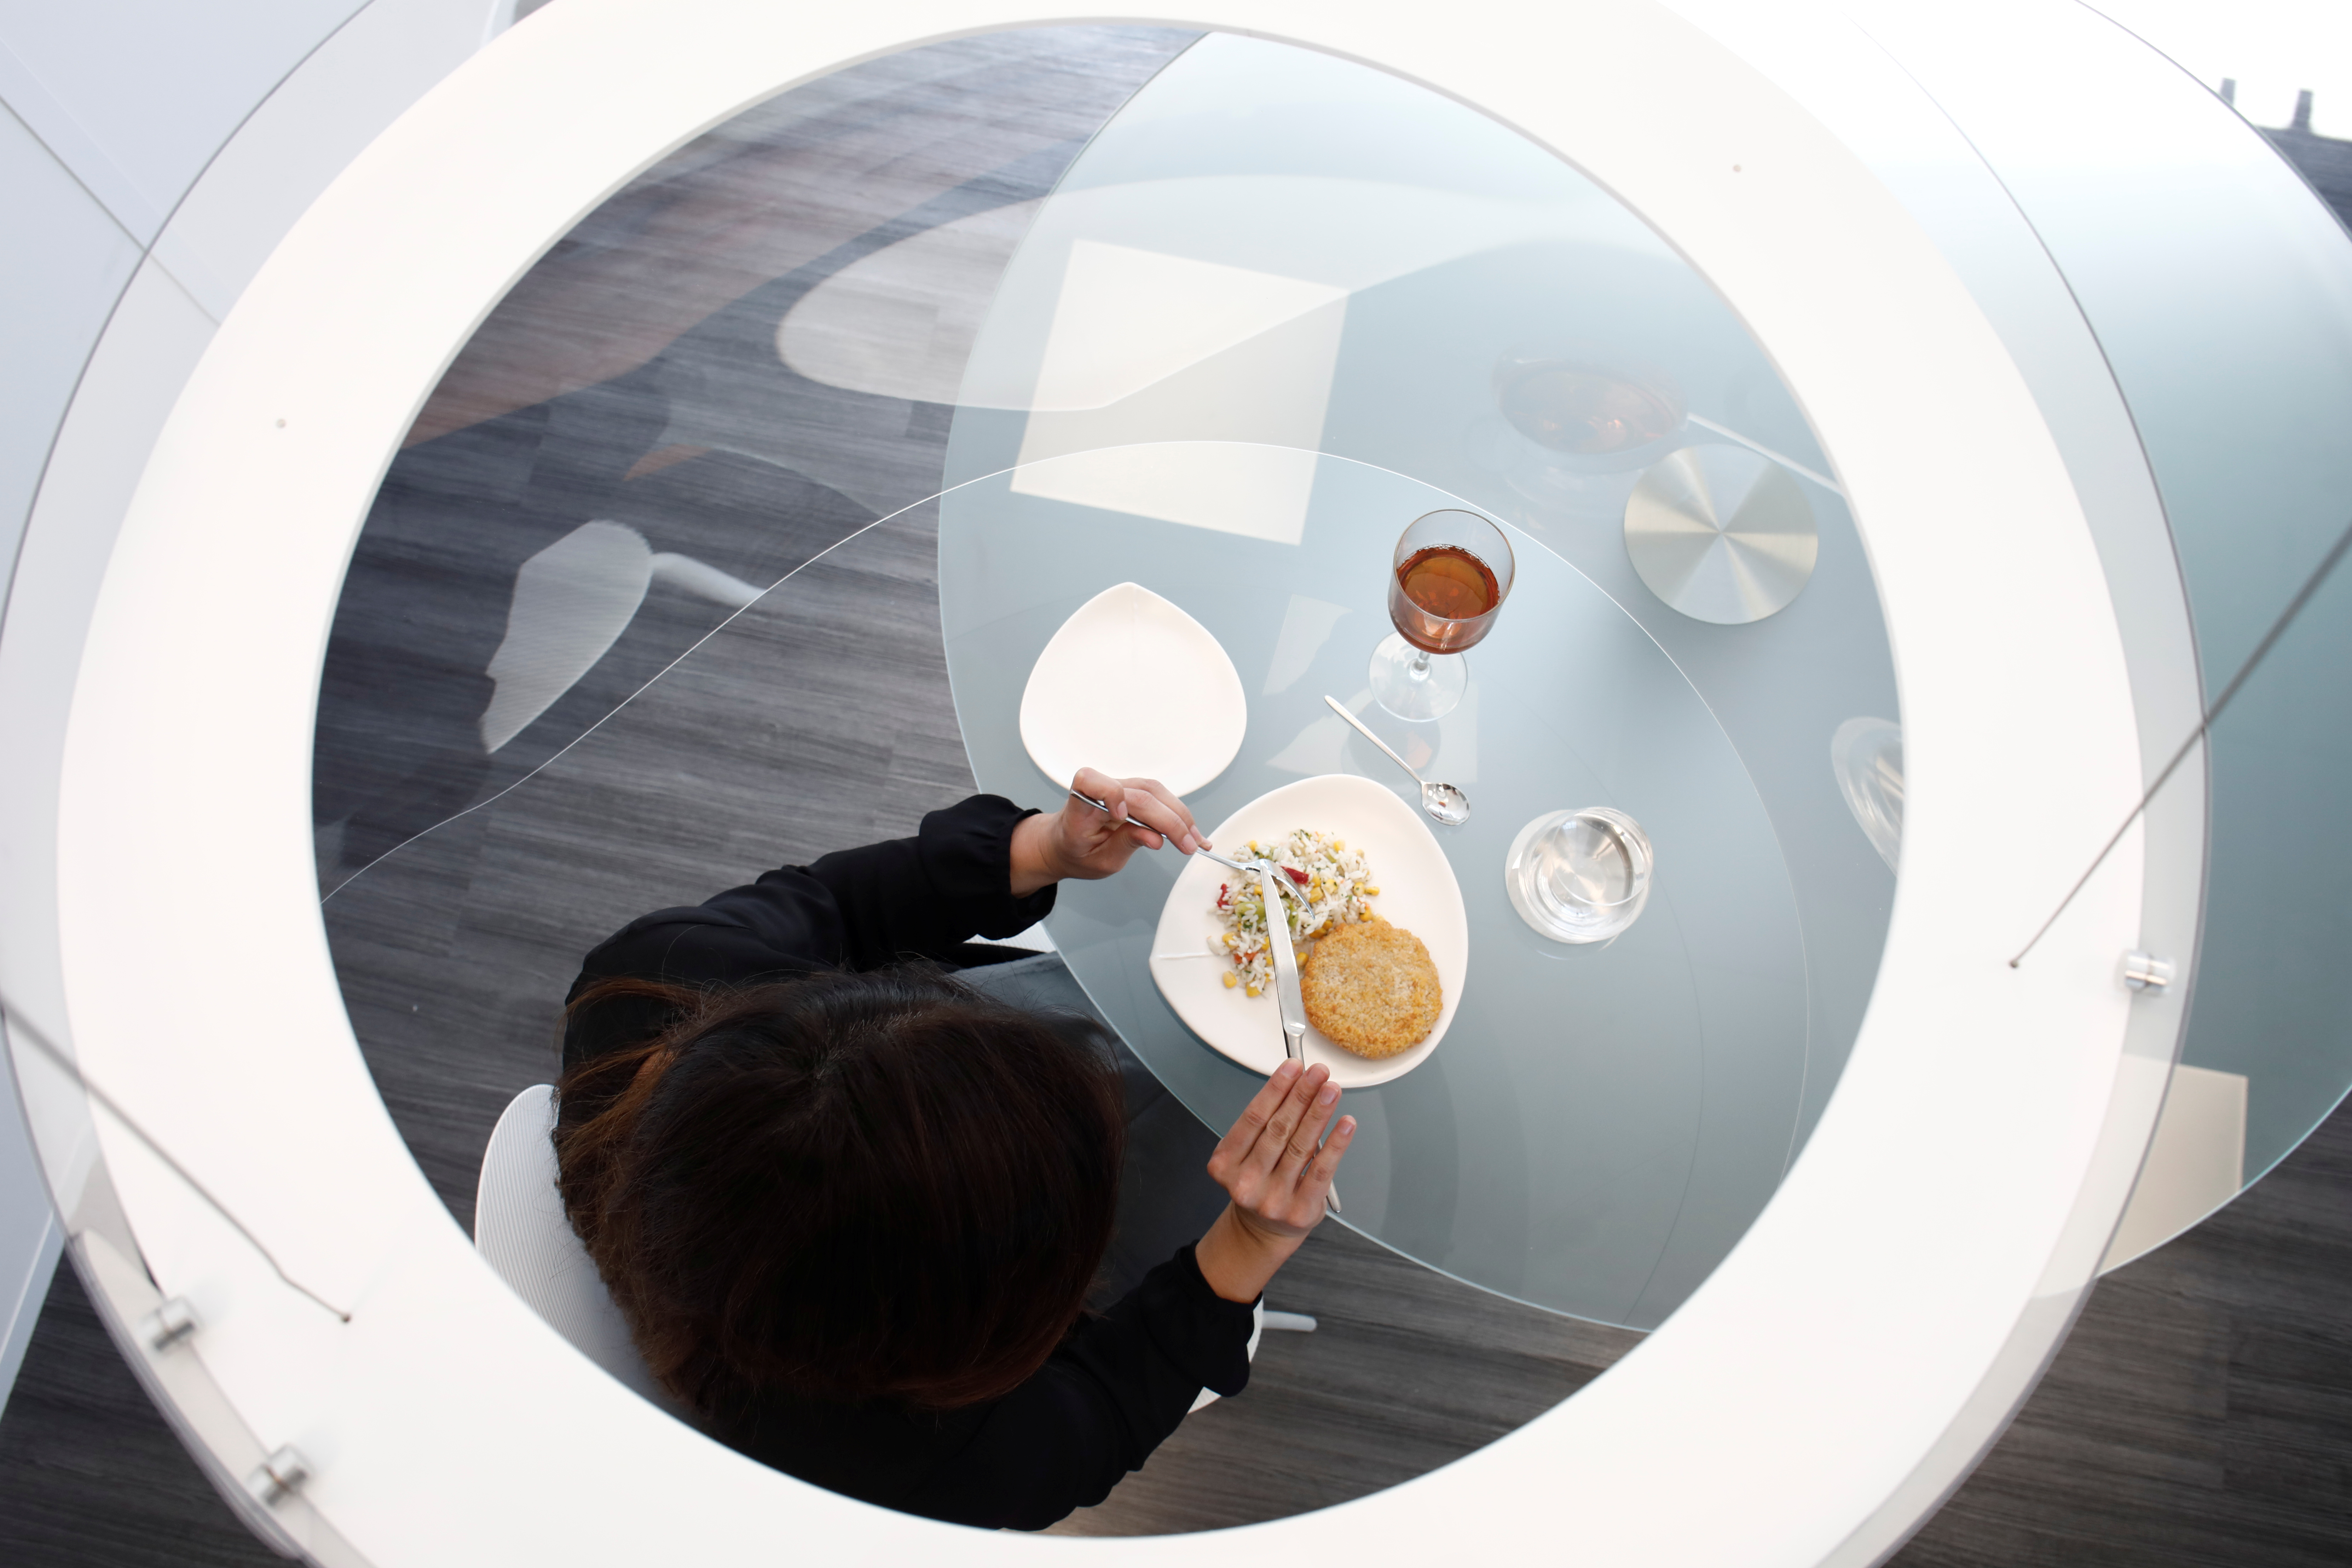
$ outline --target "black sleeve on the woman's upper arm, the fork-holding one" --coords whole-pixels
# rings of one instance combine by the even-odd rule
[[[809,969],[877,969],[903,957],[955,959],[971,936],[1014,936],[1047,917],[1054,889],[1011,896],[1021,811],[974,795],[922,818],[913,839],[786,865],[691,907],[628,922],[581,964],[572,997],[597,980],[750,985]],[[564,1027],[564,1067],[661,1027],[644,1001],[604,1001]]]

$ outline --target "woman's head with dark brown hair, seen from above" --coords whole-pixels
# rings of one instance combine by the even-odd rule
[[[564,1208],[654,1375],[993,1399],[1077,1319],[1110,1244],[1120,1081],[1091,1030],[922,971],[699,994],[607,983],[670,1027],[564,1072]]]

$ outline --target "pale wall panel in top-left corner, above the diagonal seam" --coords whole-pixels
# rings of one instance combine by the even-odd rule
[[[252,106],[362,2],[0,0],[0,99],[146,244]]]

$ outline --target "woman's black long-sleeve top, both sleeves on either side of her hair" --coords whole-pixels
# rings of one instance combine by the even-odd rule
[[[1011,896],[1011,832],[1030,816],[974,795],[922,818],[913,839],[767,872],[701,905],[633,919],[588,954],[597,980],[743,985],[814,969],[953,961],[971,936],[1011,936],[1054,907],[1054,889]],[[564,1065],[637,1044],[649,1004],[607,1001],[572,1018]],[[1091,1027],[1091,1025],[1089,1025]],[[1218,1298],[1185,1246],[1080,1319],[1018,1389],[960,1410],[771,1394],[713,1436],[802,1481],[955,1523],[1037,1530],[1110,1495],[1176,1429],[1200,1389],[1249,1382],[1251,1309]]]

